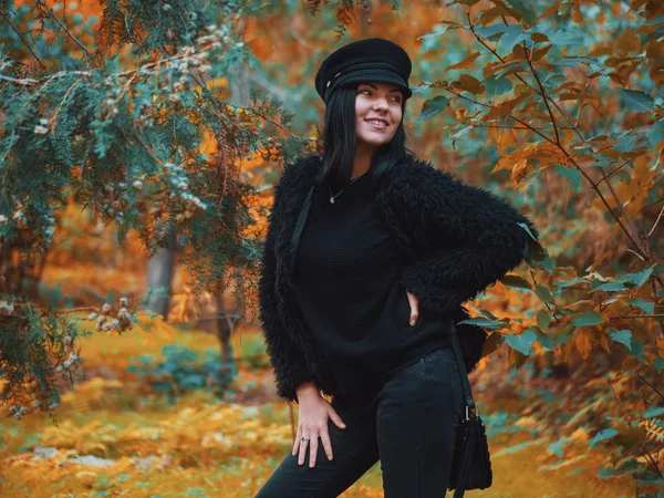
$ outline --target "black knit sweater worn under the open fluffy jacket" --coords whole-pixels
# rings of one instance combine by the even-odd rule
[[[298,249],[293,284],[302,314],[340,392],[380,381],[449,344],[443,320],[411,307],[400,260],[375,206],[371,172],[346,186],[314,188]]]

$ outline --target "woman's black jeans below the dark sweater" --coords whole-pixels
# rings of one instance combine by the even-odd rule
[[[465,407],[452,346],[362,393],[334,396],[332,406],[346,425],[340,429],[328,421],[333,460],[322,444],[313,468],[309,455],[300,466],[289,453],[256,498],[336,497],[378,459],[385,498],[445,497]]]

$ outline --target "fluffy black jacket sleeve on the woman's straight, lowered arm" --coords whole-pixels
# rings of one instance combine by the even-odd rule
[[[258,282],[259,317],[270,363],[274,369],[277,392],[282,398],[297,402],[295,388],[304,382],[313,381],[314,377],[307,367],[304,357],[297,344],[284,331],[284,325],[277,309],[274,237],[278,226],[274,222],[273,215],[280,203],[279,190],[279,186],[274,187],[274,201],[268,217],[268,230],[261,257],[261,271]]]

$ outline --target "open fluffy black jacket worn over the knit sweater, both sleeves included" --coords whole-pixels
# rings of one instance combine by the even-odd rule
[[[297,401],[295,387],[312,380],[336,394],[324,354],[303,320],[292,284],[297,248],[307,221],[313,178],[322,156],[289,163],[274,187],[261,258],[259,317],[281,397]],[[502,278],[525,258],[528,218],[492,193],[464,184],[454,174],[409,157],[372,172],[375,203],[405,261],[401,281],[414,293],[421,312],[455,321],[466,370],[480,359],[486,331],[461,323],[461,305]],[[519,225],[521,224],[521,225]]]

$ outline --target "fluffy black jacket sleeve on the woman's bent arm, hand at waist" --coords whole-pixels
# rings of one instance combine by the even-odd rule
[[[447,314],[519,266],[532,222],[497,195],[418,163],[400,184],[398,209],[408,237],[426,249],[405,264],[401,280],[423,309]],[[407,201],[407,203],[406,203]]]

